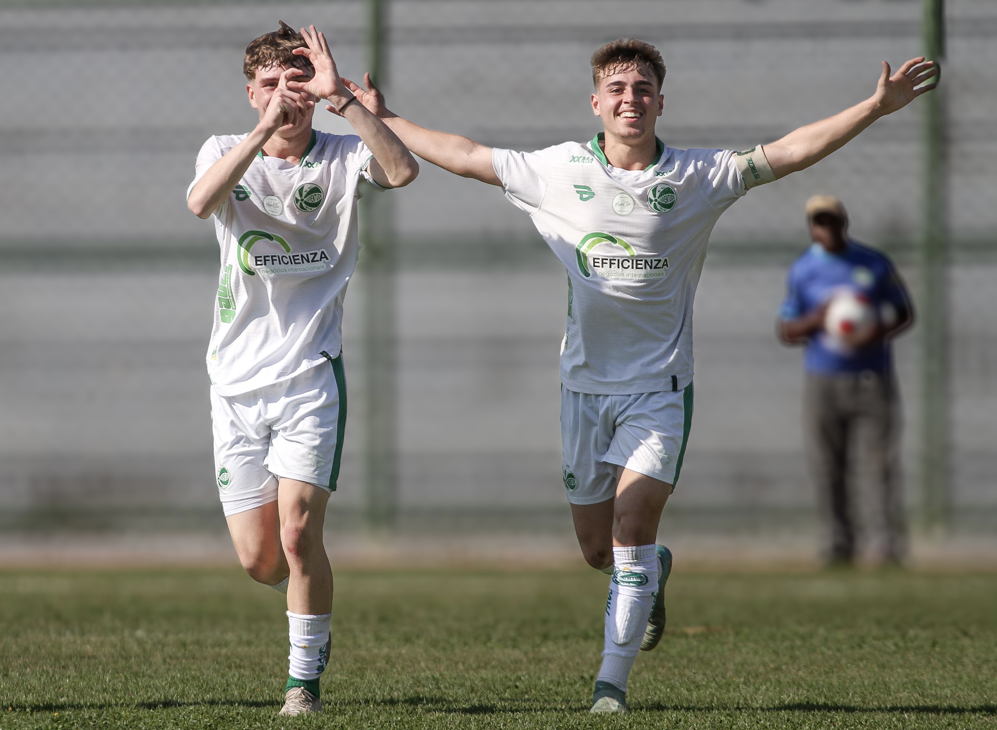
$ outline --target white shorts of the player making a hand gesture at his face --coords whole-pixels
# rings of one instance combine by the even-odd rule
[[[236,396],[211,390],[214,470],[225,517],[277,499],[277,480],[335,492],[346,429],[343,355]]]

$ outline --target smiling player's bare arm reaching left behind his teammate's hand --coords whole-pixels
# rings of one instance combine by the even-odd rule
[[[401,138],[405,146],[423,160],[462,178],[474,178],[482,183],[501,185],[492,166],[492,148],[479,145],[474,140],[460,135],[449,135],[420,127],[389,112],[384,106],[384,97],[371,83],[371,75],[364,74],[363,89],[349,79],[343,83],[368,110],[380,118],[392,132]],[[356,105],[354,105],[356,106]],[[326,107],[330,112],[334,111]]]

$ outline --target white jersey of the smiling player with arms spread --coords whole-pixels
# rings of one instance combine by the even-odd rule
[[[736,153],[672,150],[643,171],[599,147],[495,150],[505,196],[567,268],[561,382],[578,393],[681,390],[692,382],[692,305],[720,214],[747,188]]]

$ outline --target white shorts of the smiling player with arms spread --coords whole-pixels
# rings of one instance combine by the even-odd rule
[[[616,467],[672,485],[692,427],[692,383],[683,390],[592,395],[561,387],[561,469],[567,501],[616,496]]]

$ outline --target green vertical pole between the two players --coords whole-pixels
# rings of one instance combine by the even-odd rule
[[[381,89],[386,66],[384,6],[384,0],[367,0],[367,68]],[[360,262],[364,274],[365,517],[372,530],[394,524],[397,502],[392,213],[390,194],[368,187],[360,200]]]

